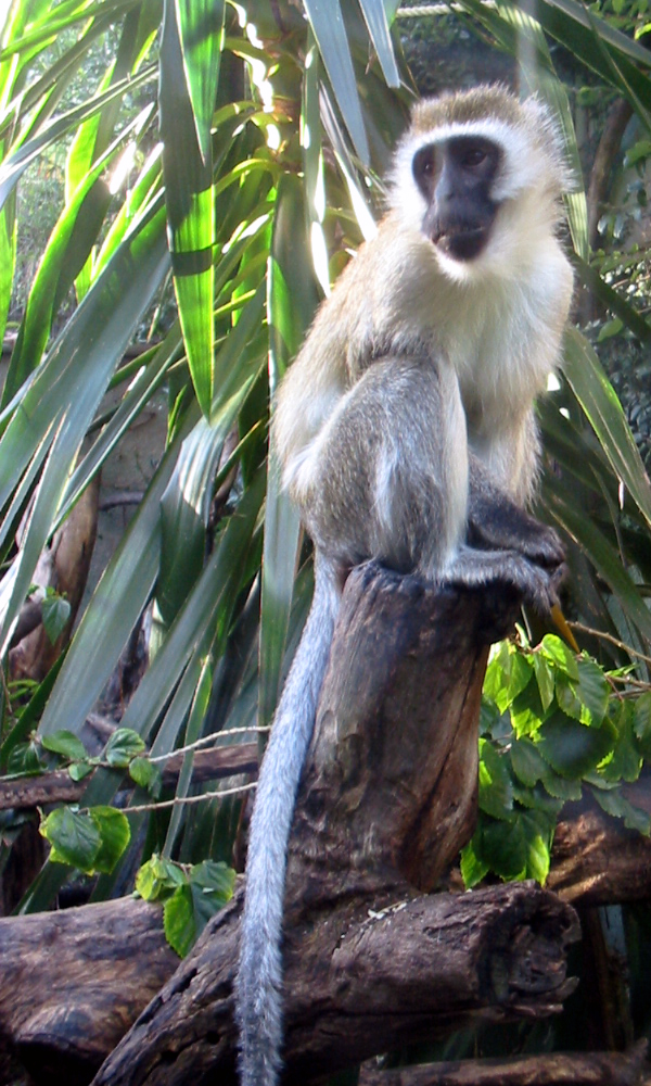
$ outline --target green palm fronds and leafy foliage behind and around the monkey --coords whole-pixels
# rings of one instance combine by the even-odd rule
[[[647,431],[633,394],[631,433],[593,349],[607,343],[617,388],[643,383],[649,253],[643,235],[637,248],[630,239],[651,153],[647,5],[541,0],[534,20],[510,0],[461,0],[454,25],[439,8],[416,20],[396,9],[392,0],[12,0],[5,9],[0,330],[12,299],[18,317],[0,404],[5,669],[53,533],[152,397],[163,394],[167,408],[164,455],[72,643],[39,684],[17,689],[8,673],[3,687],[7,771],[95,770],[80,809],[62,808],[44,826],[54,857],[100,872],[94,899],[124,891],[120,872],[152,857],[165,870],[145,869],[141,888],[149,880],[175,893],[171,861],[237,855],[245,787],[208,782],[203,803],[186,803],[197,791],[193,749],[242,742],[254,729],[264,740],[309,604],[308,547],[272,457],[268,470],[269,404],[320,299],[381,214],[382,177],[414,93],[403,39],[418,70],[421,38],[478,36],[513,58],[523,93],[550,103],[577,178],[567,243],[593,299],[577,292],[563,375],[540,405],[538,512],[567,541],[565,608],[586,652],[577,661],[554,639],[536,648],[544,631],[528,619],[519,645],[499,651],[482,741],[485,818],[465,874],[542,877],[558,810],[582,782],[648,830],[618,792],[651,742]],[[591,235],[580,182],[589,143],[577,142],[575,122],[595,102],[605,115],[618,101],[630,119]],[[38,184],[51,172],[63,179],[38,260],[30,171]],[[125,359],[135,339],[143,353]],[[144,615],[149,656],[122,717],[126,747],[93,761],[75,741]],[[573,736],[565,761],[554,729]],[[155,767],[179,747],[176,792],[161,795]],[[125,793],[126,771],[137,787]],[[104,818],[118,792],[126,815]],[[176,803],[150,815],[156,798]],[[8,853],[11,816],[3,829]],[[508,834],[519,836],[522,862],[503,862]],[[49,907],[68,876],[50,856],[20,908]],[[222,869],[215,877],[224,882]]]

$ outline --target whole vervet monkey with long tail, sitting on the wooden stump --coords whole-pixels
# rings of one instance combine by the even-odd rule
[[[375,559],[435,582],[506,580],[542,610],[556,602],[560,542],[522,506],[538,470],[533,402],[572,294],[557,237],[565,180],[539,102],[482,87],[417,105],[390,211],[280,387],[273,442],[316,584],[251,823],[243,1086],[273,1086],[281,1068],[288,841],[347,573]]]

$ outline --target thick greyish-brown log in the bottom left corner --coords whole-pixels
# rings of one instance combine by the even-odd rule
[[[162,910],[133,898],[0,920],[0,1039],[37,1083],[88,1083],[174,973]]]

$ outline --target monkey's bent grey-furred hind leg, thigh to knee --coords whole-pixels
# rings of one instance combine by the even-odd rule
[[[465,532],[468,497],[465,420],[449,366],[374,362],[310,457],[302,513],[327,556],[431,579],[448,565]]]

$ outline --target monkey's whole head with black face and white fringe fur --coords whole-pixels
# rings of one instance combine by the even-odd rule
[[[420,102],[393,180],[394,210],[459,280],[516,274],[532,223],[560,218],[569,173],[547,109],[498,86]]]

